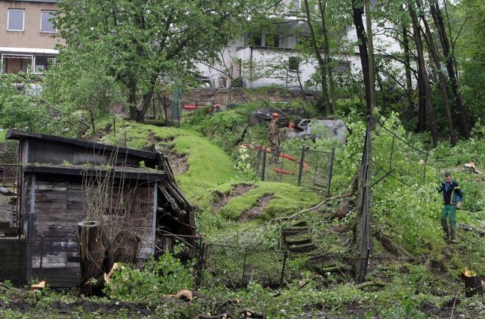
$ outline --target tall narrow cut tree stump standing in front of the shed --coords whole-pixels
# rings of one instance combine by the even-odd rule
[[[81,267],[80,294],[92,296],[100,294],[100,285],[93,285],[92,278],[102,278],[105,269],[105,241],[102,229],[97,221],[78,223],[79,253]]]

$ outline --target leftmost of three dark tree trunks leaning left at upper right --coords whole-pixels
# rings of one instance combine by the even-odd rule
[[[425,55],[422,49],[422,41],[421,41],[421,34],[420,34],[420,24],[417,21],[417,16],[415,13],[415,9],[412,6],[412,2],[410,0],[407,1],[407,9],[409,10],[411,16],[411,23],[412,23],[412,31],[414,33],[414,38],[416,42],[416,51],[417,51],[417,60],[419,63],[420,75],[422,76],[422,82],[425,85],[425,93],[426,93],[426,104],[428,113],[430,115],[430,131],[431,137],[433,140],[433,145],[438,145],[438,130],[436,127],[436,120],[435,120],[435,109],[433,108],[433,98],[432,92],[430,88],[430,81],[427,77],[426,65],[425,65]]]

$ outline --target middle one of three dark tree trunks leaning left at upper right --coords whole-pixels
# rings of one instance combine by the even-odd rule
[[[417,4],[418,9],[420,9],[419,1],[416,1],[416,4]],[[421,16],[421,20],[422,20],[423,24],[425,25],[425,31],[426,31],[424,33],[425,40],[426,40],[428,48],[430,49],[430,58],[434,63],[433,68],[435,70],[435,73],[438,74],[439,86],[441,87],[441,91],[442,91],[442,95],[443,95],[444,110],[446,111],[448,128],[449,128],[449,142],[451,142],[452,146],[454,146],[454,145],[457,145],[457,137],[454,133],[452,108],[449,105],[447,83],[446,83],[446,80],[444,79],[444,76],[443,76],[443,73],[442,73],[442,70],[441,70],[441,65],[439,63],[439,57],[437,56],[435,41],[432,38],[430,26],[427,23],[424,16]]]

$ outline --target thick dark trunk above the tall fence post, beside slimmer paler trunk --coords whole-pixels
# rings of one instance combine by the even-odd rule
[[[363,9],[363,0],[352,0],[352,14],[353,14],[353,23],[356,26],[356,33],[358,42],[358,55],[361,57],[361,64],[362,64],[362,73],[363,73],[363,80],[364,86],[366,88],[366,104],[367,104],[367,113],[371,113],[372,110],[372,103],[371,103],[371,93],[370,88],[371,85],[369,83],[369,58],[367,53],[367,39],[366,39],[366,31],[363,26],[362,21],[362,9]]]

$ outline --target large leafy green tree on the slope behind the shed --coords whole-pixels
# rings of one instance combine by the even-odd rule
[[[127,91],[130,118],[143,120],[156,83],[176,83],[195,61],[214,61],[255,2],[61,1],[60,60],[106,70]]]

